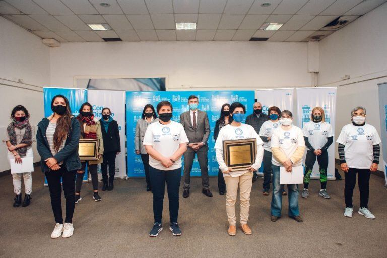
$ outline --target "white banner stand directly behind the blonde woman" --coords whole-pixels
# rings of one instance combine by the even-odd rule
[[[335,132],[336,121],[336,90],[337,87],[313,87],[313,88],[296,88],[297,91],[297,121],[296,126],[303,128],[303,125],[310,122],[311,112],[314,107],[324,109],[325,122],[330,123],[333,132]],[[337,136],[334,137],[334,139]],[[330,180],[335,180],[335,143],[332,143],[328,148],[328,171],[327,177]],[[304,161],[306,151],[304,155]],[[318,162],[314,163],[313,171],[310,176],[313,179],[320,178]]]

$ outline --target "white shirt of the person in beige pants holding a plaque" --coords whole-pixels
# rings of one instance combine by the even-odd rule
[[[261,166],[262,158],[264,155],[264,149],[262,147],[262,140],[259,137],[259,135],[256,133],[254,128],[251,125],[242,123],[240,126],[231,126],[230,124],[227,124],[226,126],[222,127],[219,131],[218,138],[215,142],[215,150],[216,150],[216,160],[218,161],[219,168],[221,171],[226,171],[228,169],[226,163],[224,162],[223,158],[223,141],[224,140],[240,140],[240,139],[248,139],[248,138],[255,138],[256,139],[256,157],[255,157],[255,163],[252,165],[252,167],[256,170],[258,170]],[[231,177],[237,177],[241,176],[244,173],[248,172],[248,170],[239,170],[239,171],[231,171],[229,174],[223,173],[223,176],[231,176]]]

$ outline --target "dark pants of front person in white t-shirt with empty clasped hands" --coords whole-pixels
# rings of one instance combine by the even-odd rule
[[[153,215],[155,223],[161,223],[163,214],[165,183],[167,183],[167,192],[169,200],[169,218],[171,223],[177,222],[179,214],[179,188],[181,179],[181,168],[175,170],[159,170],[149,167],[153,191]]]

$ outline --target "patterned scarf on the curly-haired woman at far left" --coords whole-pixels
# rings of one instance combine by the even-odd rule
[[[31,129],[31,125],[30,125],[28,119],[24,120],[23,122],[18,122],[15,119],[13,119],[12,122],[8,125],[7,133],[10,136],[10,142],[12,145],[17,145],[15,127],[19,128],[19,129],[26,128],[23,139],[19,144],[24,143],[24,144],[31,145],[32,144],[32,129]],[[26,156],[27,147],[18,148],[18,149],[16,149],[16,151],[18,152],[19,156],[22,158],[22,157]]]

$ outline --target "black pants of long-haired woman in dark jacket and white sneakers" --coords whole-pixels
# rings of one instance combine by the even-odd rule
[[[67,171],[66,167],[62,166],[59,170],[48,171],[45,173],[48,183],[48,189],[51,197],[51,207],[54,213],[55,222],[63,224],[62,215],[62,186],[60,179],[62,179],[64,198],[66,198],[66,219],[64,222],[72,223],[75,208],[75,175],[77,171]]]

